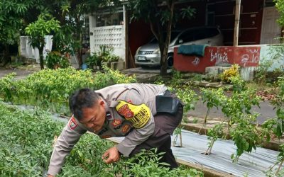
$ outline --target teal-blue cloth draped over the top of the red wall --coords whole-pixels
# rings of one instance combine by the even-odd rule
[[[178,54],[204,57],[205,47],[207,46],[208,45],[180,45],[180,47],[178,47]]]

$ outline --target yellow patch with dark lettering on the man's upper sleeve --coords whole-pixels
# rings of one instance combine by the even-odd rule
[[[150,108],[146,104],[133,105],[126,101],[119,101],[116,105],[116,111],[119,115],[123,116],[126,120],[133,123],[133,127],[141,128],[151,117]]]

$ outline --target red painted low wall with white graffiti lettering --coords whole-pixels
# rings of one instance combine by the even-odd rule
[[[206,47],[204,57],[178,54],[174,51],[174,68],[180,72],[204,73],[206,67],[215,64],[239,64],[241,67],[257,67],[261,47]]]

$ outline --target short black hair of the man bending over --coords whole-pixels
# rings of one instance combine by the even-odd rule
[[[91,89],[79,89],[69,98],[69,108],[77,120],[83,117],[83,108],[92,108],[99,101],[99,96]]]

